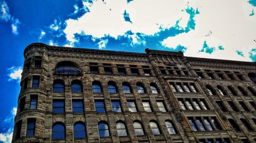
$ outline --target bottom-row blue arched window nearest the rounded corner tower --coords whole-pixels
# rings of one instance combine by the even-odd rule
[[[62,139],[66,137],[65,125],[63,123],[55,123],[52,126],[52,139]]]

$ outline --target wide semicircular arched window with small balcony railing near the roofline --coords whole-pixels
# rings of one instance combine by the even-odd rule
[[[55,74],[62,75],[82,75],[82,70],[73,62],[59,62],[54,69]]]

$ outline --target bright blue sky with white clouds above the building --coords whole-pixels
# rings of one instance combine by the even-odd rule
[[[256,0],[0,0],[0,142],[10,142],[24,48],[49,45],[255,62]]]

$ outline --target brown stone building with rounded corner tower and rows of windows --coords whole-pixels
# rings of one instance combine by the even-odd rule
[[[256,63],[28,45],[12,142],[255,142]]]

